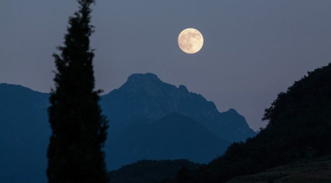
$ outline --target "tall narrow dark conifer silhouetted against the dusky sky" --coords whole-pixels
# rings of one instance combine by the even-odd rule
[[[52,128],[48,147],[49,183],[107,182],[103,145],[107,120],[94,90],[93,50],[89,37],[90,5],[79,0],[79,11],[69,18],[61,55],[54,54],[57,72],[48,109]]]

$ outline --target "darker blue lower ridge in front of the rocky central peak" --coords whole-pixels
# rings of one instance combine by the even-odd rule
[[[207,163],[230,144],[207,127],[178,113],[153,122],[137,121],[110,140],[110,169],[141,159],[182,159]]]

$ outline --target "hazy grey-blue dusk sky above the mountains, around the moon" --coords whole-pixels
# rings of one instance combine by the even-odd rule
[[[74,0],[0,0],[0,83],[49,92],[51,55],[75,10]],[[98,89],[154,73],[235,108],[254,130],[277,93],[331,60],[329,0],[97,0],[93,10]],[[205,41],[194,55],[177,44],[191,27]]]

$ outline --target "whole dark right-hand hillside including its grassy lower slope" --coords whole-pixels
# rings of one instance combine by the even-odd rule
[[[263,119],[268,125],[255,137],[232,143],[197,171],[162,182],[331,182],[331,64],[279,93]]]

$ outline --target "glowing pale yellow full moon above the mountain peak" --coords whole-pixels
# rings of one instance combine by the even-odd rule
[[[183,52],[194,54],[199,52],[204,45],[204,37],[196,29],[185,29],[178,36],[178,45]]]

